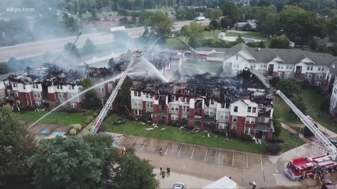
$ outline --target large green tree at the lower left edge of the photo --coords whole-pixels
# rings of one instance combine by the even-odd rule
[[[26,160],[34,153],[35,139],[9,105],[0,109],[0,187],[28,188],[32,172]]]

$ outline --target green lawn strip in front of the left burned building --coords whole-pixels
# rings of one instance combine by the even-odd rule
[[[15,115],[18,116],[20,120],[35,122],[47,113],[48,112],[46,111],[44,112],[26,111],[26,112],[16,112]],[[67,116],[69,117],[69,124],[79,123],[83,125],[87,117],[92,116],[92,112],[86,112],[85,116],[83,115],[83,112],[81,113],[52,112],[48,116],[41,119],[39,122],[48,124],[68,125]]]

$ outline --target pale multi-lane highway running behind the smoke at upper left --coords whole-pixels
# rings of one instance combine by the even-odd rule
[[[174,25],[174,31],[180,30],[184,25],[188,25],[193,21],[183,21],[176,22]],[[209,20],[198,21],[203,25],[208,25]],[[143,35],[144,27],[140,28],[130,28],[126,29],[129,36],[132,38],[139,37]],[[76,46],[82,47],[85,41],[89,38],[93,41],[94,44],[103,44],[113,42],[113,35],[107,34],[106,32],[84,34],[78,39]],[[0,48],[0,62],[7,61],[10,57],[17,59],[30,58],[34,56],[39,56],[45,53],[46,51],[50,52],[60,52],[63,50],[64,45],[67,42],[73,42],[76,39],[76,36],[57,38],[44,41],[36,41],[30,43],[17,44],[13,46],[1,47]]]

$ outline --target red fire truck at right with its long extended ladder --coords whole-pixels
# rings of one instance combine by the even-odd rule
[[[320,155],[311,158],[300,157],[294,160],[290,160],[283,172],[292,180],[302,180],[311,175],[318,174],[319,172],[324,174],[329,172],[335,172],[337,168],[336,147],[280,90],[277,90],[276,94],[284,100],[284,102],[301,119],[304,125],[310,129],[314,136],[328,150],[328,153],[326,155]],[[318,179],[320,183],[325,186],[325,183],[321,181],[319,174]]]

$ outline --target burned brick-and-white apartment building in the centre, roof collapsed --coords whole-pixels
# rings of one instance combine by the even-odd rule
[[[131,89],[134,115],[153,122],[186,122],[189,128],[231,130],[269,138],[274,132],[269,85],[249,69],[236,77],[195,75],[184,83],[139,79]]]

